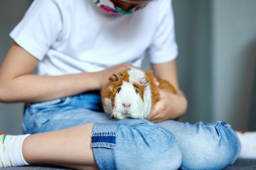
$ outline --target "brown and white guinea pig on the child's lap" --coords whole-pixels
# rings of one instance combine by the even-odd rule
[[[168,81],[154,77],[152,71],[138,68],[122,70],[108,79],[110,81],[101,90],[101,100],[110,119],[144,119],[159,100],[159,88],[177,93]]]

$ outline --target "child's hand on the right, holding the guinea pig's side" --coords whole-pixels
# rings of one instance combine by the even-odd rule
[[[160,122],[167,119],[176,119],[184,115],[187,108],[187,101],[182,92],[178,94],[169,93],[159,89],[160,99],[155,109],[146,118],[153,122]]]

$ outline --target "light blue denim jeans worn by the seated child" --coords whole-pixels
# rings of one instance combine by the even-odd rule
[[[95,123],[92,148],[102,170],[221,170],[240,151],[234,130],[224,122],[109,120],[95,94],[27,104],[23,127],[34,134],[87,123]]]

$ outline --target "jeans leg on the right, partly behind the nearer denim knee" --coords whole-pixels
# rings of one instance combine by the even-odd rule
[[[177,139],[183,153],[181,170],[221,170],[238,157],[240,142],[225,122],[204,125],[167,120],[158,125]]]

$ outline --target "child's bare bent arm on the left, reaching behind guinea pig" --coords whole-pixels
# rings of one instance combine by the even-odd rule
[[[32,75],[37,64],[38,59],[13,44],[0,68],[0,102],[39,102],[100,90],[112,73],[131,67],[121,64],[96,73]]]

